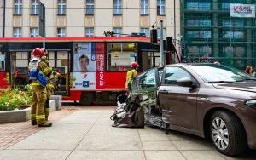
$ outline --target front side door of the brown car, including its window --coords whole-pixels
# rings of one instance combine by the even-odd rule
[[[162,84],[158,91],[162,118],[171,125],[197,129],[196,98],[198,88],[192,89],[191,87],[178,86],[177,81],[184,78],[195,82],[195,78],[184,68],[166,66]]]

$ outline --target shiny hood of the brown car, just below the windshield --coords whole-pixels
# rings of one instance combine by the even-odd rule
[[[248,92],[256,92],[256,82],[237,82],[237,83],[214,83],[213,86],[217,89],[232,89]]]

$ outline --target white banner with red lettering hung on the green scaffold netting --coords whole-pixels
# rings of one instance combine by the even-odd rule
[[[255,5],[230,3],[230,17],[255,18]]]

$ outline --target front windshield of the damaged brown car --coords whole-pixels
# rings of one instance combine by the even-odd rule
[[[203,64],[190,65],[189,68],[195,71],[207,83],[234,83],[256,80],[255,77],[248,75],[244,71],[230,66]]]

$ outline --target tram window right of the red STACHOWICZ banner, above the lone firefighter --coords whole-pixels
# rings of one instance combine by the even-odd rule
[[[132,61],[136,60],[136,43],[108,43],[107,71],[127,71]]]

